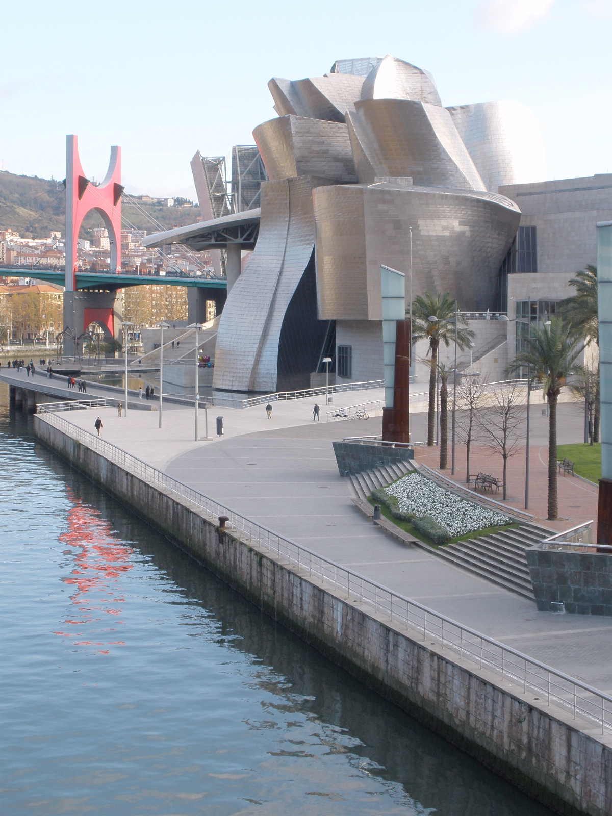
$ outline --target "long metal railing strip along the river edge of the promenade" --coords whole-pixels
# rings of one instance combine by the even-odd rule
[[[554,703],[565,712],[573,713],[574,719],[580,716],[588,721],[589,725],[595,722],[601,726],[602,734],[605,733],[606,727],[612,729],[612,697],[609,694],[566,675],[565,672],[559,672],[546,663],[540,663],[539,660],[530,658],[512,649],[511,646],[482,635],[475,629],[463,626],[462,623],[447,618],[446,615],[435,612],[418,601],[410,601],[409,598],[353,570],[348,570],[335,561],[317,555],[316,552],[286,539],[268,527],[241,516],[215,499],[167,476],[142,459],[128,454],[126,450],[95,437],[59,414],[48,411],[43,404],[37,406],[37,414],[67,436],[78,439],[91,450],[97,450],[106,459],[118,463],[149,484],[184,499],[209,517],[217,519],[220,516],[227,517],[234,534],[245,535],[251,542],[266,548],[279,561],[286,561],[290,568],[308,574],[310,579],[333,586],[335,592],[342,592],[347,600],[369,606],[374,614],[384,616],[390,623],[396,623],[403,629],[412,629],[422,636],[424,641],[427,638],[437,641],[442,650],[447,649],[459,660],[467,658],[481,669],[494,672],[502,682],[507,681],[518,686],[523,694],[529,690],[530,694],[535,693],[546,700],[548,705]]]

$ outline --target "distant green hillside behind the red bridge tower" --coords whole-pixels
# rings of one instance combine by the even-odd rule
[[[198,206],[161,206],[135,201],[163,229],[194,224],[200,217]],[[14,229],[22,237],[45,238],[51,231],[65,233],[65,193],[61,181],[39,179],[38,176],[14,175],[0,171],[0,229]],[[124,228],[135,228],[154,233],[157,227],[126,198],[122,202]],[[129,221],[130,224],[127,224]],[[91,238],[91,230],[102,226],[97,213],[89,213],[83,221],[79,237]]]

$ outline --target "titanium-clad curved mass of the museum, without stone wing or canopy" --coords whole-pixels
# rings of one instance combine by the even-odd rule
[[[495,185],[528,173],[539,144],[531,125],[517,137],[521,106],[445,109],[431,74],[391,55],[268,87],[278,118],[254,131],[269,178],[259,239],[221,316],[215,388],[308,388],[334,322],[343,343],[371,345],[380,265],[408,273],[410,228],[415,295],[493,308],[521,215]]]

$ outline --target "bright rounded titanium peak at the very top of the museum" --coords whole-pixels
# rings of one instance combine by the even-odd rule
[[[436,83],[427,71],[391,54],[367,75],[361,86],[362,100],[416,100],[441,107]]]

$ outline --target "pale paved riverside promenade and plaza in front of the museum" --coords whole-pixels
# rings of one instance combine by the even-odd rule
[[[335,394],[335,405],[339,397],[346,397],[347,405],[376,398],[367,392],[359,395],[356,400],[355,392]],[[532,602],[423,550],[406,548],[374,528],[350,501],[330,442],[379,432],[380,420],[313,423],[313,404],[313,398],[273,403],[269,420],[265,406],[210,410],[209,434],[214,432],[215,415],[222,414],[226,435],[197,443],[193,410],[169,411],[162,431],[157,428],[157,413],[132,412],[127,419],[118,419],[115,410],[106,409],[100,415],[105,439],[246,517],[544,663],[612,691],[609,619],[538,612]],[[93,413],[71,412],[65,417],[91,432]],[[580,441],[579,410],[568,404],[559,413],[559,441]],[[424,414],[412,416],[413,438],[424,437],[425,422]],[[202,410],[200,428],[203,435]],[[532,415],[534,494],[541,493],[545,476],[547,428],[545,417]],[[432,449],[417,451],[419,456],[435,455]],[[499,470],[499,458],[488,457],[491,467]],[[517,468],[521,461],[523,457],[517,455]],[[519,484],[511,494],[517,506],[520,489]],[[587,504],[572,509],[573,518],[551,527],[566,529],[592,518],[588,516],[592,509],[588,503],[596,498],[592,488],[561,477],[560,507],[568,515],[571,496],[579,496],[572,503],[586,500]]]

